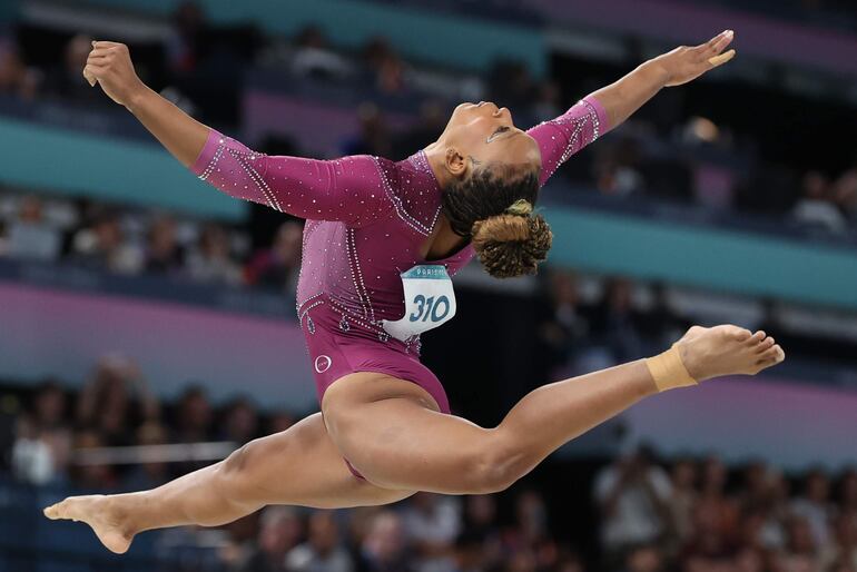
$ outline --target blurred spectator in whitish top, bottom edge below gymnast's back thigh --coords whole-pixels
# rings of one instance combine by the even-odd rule
[[[339,544],[339,529],[331,511],[309,516],[307,541],[286,555],[286,566],[294,572],[352,572],[354,563]]]

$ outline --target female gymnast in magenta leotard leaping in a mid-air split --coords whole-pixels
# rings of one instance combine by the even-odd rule
[[[479,257],[500,278],[535,273],[551,231],[533,214],[556,168],[661,88],[735,56],[727,30],[647,61],[529,131],[491,102],[455,108],[440,138],[393,162],[272,157],[147,88],[121,43],[92,42],[87,80],[224,193],[306,219],[297,312],[321,413],[151,491],[72,496],[50,519],[89,524],[114,552],[165,526],[216,526],[267,504],[347,507],[415,491],[502,491],[552,451],[641,398],[785,358],[764,332],[691,327],[656,357],[540,387],[493,428],[450,414],[420,363],[420,334],[455,313],[450,276]]]

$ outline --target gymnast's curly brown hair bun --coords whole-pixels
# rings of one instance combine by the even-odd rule
[[[541,215],[529,216],[532,206],[519,203],[508,214],[473,224],[473,248],[485,270],[496,278],[535,274],[551,249],[553,233],[548,221]]]

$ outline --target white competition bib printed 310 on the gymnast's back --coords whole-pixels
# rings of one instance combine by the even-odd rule
[[[395,322],[383,320],[387,334],[404,342],[452,319],[455,293],[443,265],[414,266],[401,276],[405,289],[405,316]]]

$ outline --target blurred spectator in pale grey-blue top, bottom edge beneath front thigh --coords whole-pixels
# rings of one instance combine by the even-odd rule
[[[416,552],[418,572],[452,570],[452,546],[461,531],[461,510],[454,496],[420,492],[402,513],[405,534]]]

